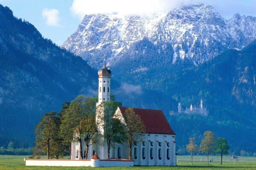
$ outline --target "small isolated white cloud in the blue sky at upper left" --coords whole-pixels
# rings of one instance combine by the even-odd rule
[[[42,17],[44,19],[46,19],[46,24],[47,26],[60,26],[59,25],[59,11],[58,9],[48,9],[48,8],[44,8],[42,11]]]

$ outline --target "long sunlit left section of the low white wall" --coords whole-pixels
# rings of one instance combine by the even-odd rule
[[[26,166],[65,166],[65,167],[88,167],[91,165],[88,160],[71,159],[27,159]]]

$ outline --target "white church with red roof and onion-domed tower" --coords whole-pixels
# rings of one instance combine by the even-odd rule
[[[96,103],[98,106],[101,102],[110,101],[111,94],[111,71],[106,68],[105,59],[104,66],[98,71],[99,75],[99,101]],[[118,107],[116,115],[124,115],[125,107]],[[166,117],[161,110],[141,109],[134,108],[145,125],[145,136],[143,140],[138,143],[132,150],[132,158],[134,165],[161,165],[161,166],[175,166],[175,132],[170,127]],[[120,114],[118,114],[120,113]],[[99,111],[96,111],[96,116]],[[118,119],[124,120],[122,116]],[[100,128],[100,127],[99,127]],[[102,130],[99,129],[99,133]],[[104,132],[103,132],[104,133]],[[85,144],[83,143],[83,156]],[[79,142],[72,143],[71,159],[80,159],[79,155]],[[107,144],[92,144],[89,146],[88,158],[97,155],[101,160],[107,159]],[[111,159],[128,159],[128,147],[122,144],[116,144],[110,150]]]

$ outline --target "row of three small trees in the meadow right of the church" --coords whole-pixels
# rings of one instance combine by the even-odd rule
[[[216,142],[215,134],[208,130],[204,132],[204,138],[201,140],[199,148],[195,138],[190,137],[189,144],[187,144],[186,149],[191,153],[191,164],[193,164],[193,154],[196,152],[206,153],[207,164],[209,164],[210,153],[220,153],[222,164],[222,156],[228,154],[229,146],[227,144],[227,140],[221,137],[218,137]]]

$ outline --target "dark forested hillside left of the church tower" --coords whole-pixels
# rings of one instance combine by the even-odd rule
[[[0,146],[34,144],[41,116],[77,94],[91,94],[97,74],[87,63],[44,39],[0,5]]]

